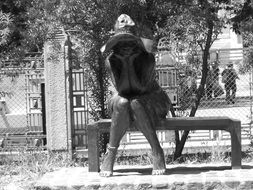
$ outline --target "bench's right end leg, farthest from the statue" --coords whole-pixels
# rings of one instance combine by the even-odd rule
[[[231,156],[232,169],[241,169],[242,153],[241,153],[241,122],[234,121],[233,127],[230,129],[231,135]]]

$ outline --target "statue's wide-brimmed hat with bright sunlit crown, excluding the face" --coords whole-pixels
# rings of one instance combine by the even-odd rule
[[[113,49],[119,42],[124,41],[134,41],[139,45],[140,48],[142,48],[144,51],[147,51],[147,47],[142,41],[143,39],[134,35],[134,26],[134,21],[128,15],[120,15],[116,20],[114,27],[115,34],[110,37],[106,44],[101,48],[101,52],[108,52]]]

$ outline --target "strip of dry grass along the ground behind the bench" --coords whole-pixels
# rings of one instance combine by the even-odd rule
[[[2,152],[3,153],[3,152]],[[250,146],[242,153],[243,162],[253,161],[253,148]],[[166,155],[166,164],[199,164],[199,163],[230,163],[229,151],[219,151],[214,147],[211,152],[183,154],[173,160],[173,155]],[[127,155],[120,152],[116,158],[117,165],[151,165],[150,152],[139,155]],[[74,155],[73,160],[66,152],[24,151],[17,150],[0,155],[0,190],[7,186],[10,189],[20,187],[25,190],[34,189],[35,182],[45,173],[66,167],[87,167],[87,158],[81,154]]]

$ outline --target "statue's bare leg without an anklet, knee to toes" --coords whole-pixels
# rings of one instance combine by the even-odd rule
[[[148,140],[153,155],[153,175],[163,175],[166,170],[164,153],[161,145],[158,141],[155,126],[152,126],[152,122],[145,112],[144,107],[138,102],[133,100],[131,102],[131,109],[133,116],[137,124],[138,129],[144,134]]]

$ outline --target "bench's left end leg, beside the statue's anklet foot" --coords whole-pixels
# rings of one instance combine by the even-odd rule
[[[89,172],[99,172],[98,130],[94,125],[88,126],[88,166]]]

